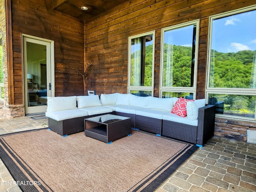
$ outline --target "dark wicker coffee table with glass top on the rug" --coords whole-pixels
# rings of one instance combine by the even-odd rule
[[[85,136],[107,144],[131,135],[131,118],[117,115],[101,115],[84,119]]]

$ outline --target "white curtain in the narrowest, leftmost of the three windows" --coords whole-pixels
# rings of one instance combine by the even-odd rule
[[[132,81],[131,86],[140,86],[141,74],[141,40],[140,38],[134,39],[134,59],[132,63]]]

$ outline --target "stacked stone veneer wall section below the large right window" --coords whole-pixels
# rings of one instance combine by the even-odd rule
[[[256,131],[256,122],[215,118],[215,136],[247,142],[247,130]]]

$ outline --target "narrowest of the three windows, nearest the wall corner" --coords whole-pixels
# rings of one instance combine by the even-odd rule
[[[139,96],[153,94],[154,36],[155,32],[148,32],[129,38],[129,93]]]

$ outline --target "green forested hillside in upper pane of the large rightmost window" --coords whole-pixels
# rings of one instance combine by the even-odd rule
[[[254,52],[221,53],[212,50],[210,87],[250,88]],[[214,59],[213,59],[214,58]],[[215,64],[213,66],[213,64]],[[252,85],[251,85],[252,86]]]

